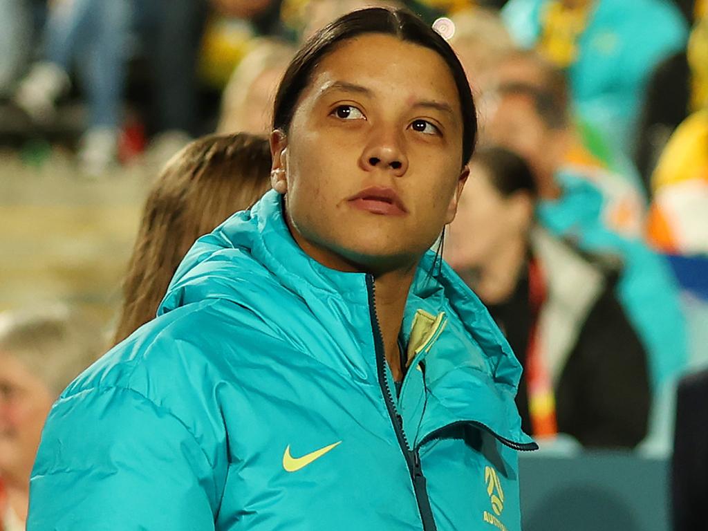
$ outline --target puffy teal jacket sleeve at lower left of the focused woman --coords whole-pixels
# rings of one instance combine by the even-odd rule
[[[30,481],[28,531],[214,529],[212,467],[190,430],[138,392],[60,399]]]

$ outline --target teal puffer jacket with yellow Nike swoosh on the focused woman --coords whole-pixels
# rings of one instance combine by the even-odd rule
[[[305,255],[273,192],[237,213],[53,407],[28,530],[519,530],[520,367],[432,265],[396,399],[372,277]]]

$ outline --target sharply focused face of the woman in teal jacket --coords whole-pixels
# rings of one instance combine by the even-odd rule
[[[332,268],[415,265],[455,217],[462,131],[437,53],[389,35],[343,42],[314,70],[287,137],[273,135],[293,236]]]

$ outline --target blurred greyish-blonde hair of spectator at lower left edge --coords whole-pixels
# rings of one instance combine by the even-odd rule
[[[103,353],[97,319],[64,304],[0,313],[0,355],[11,355],[61,392]]]

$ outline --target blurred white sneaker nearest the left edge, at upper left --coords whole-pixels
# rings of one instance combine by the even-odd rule
[[[46,123],[57,114],[57,101],[69,92],[69,74],[55,63],[35,63],[20,81],[13,101],[35,122]]]

